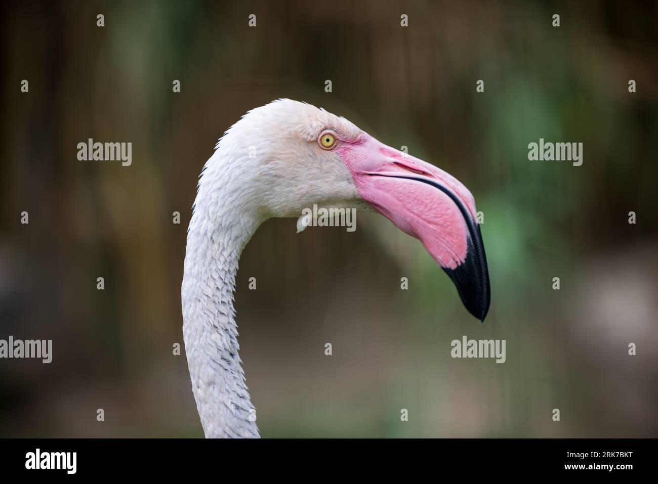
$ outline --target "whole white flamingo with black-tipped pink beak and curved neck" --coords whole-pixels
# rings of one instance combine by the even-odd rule
[[[419,239],[484,322],[489,274],[464,185],[313,105],[278,99],[252,109],[203,166],[188,228],[183,335],[205,437],[260,437],[238,354],[238,259],[265,220],[313,204],[376,211]]]

